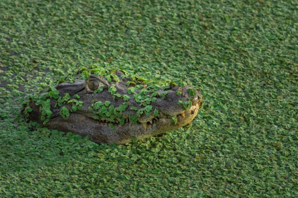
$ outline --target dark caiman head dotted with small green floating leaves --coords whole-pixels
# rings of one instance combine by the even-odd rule
[[[122,69],[81,67],[23,103],[21,114],[49,129],[126,144],[189,124],[202,107],[189,81],[153,81]]]

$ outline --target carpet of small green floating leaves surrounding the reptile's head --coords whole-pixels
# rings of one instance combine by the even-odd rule
[[[0,1],[0,197],[297,197],[297,1]],[[192,126],[125,145],[27,123],[81,66],[201,86]]]

